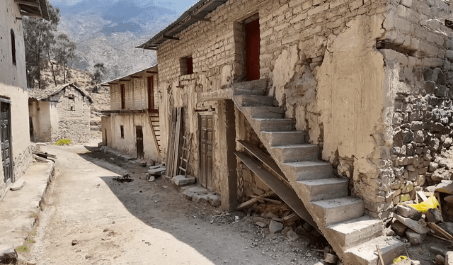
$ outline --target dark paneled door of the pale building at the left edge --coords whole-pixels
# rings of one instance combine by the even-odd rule
[[[13,178],[13,162],[11,162],[11,104],[0,101],[0,145],[1,145],[1,162],[4,171],[4,181],[6,185],[10,184]]]

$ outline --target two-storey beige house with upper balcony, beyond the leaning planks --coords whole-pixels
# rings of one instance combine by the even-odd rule
[[[102,111],[103,143],[140,159],[161,160],[157,65],[107,81],[110,110]]]

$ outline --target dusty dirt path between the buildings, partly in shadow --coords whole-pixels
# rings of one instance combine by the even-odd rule
[[[25,257],[36,264],[315,264],[318,238],[269,235],[257,216],[222,214],[193,203],[146,168],[107,157],[97,147],[42,147],[56,154],[55,181]],[[91,150],[92,152],[88,151]],[[115,176],[129,173],[133,181]],[[236,215],[239,220],[236,220]],[[74,244],[74,245],[73,245]]]

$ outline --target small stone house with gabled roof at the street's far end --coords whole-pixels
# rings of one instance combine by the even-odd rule
[[[86,91],[74,84],[29,91],[31,140],[55,142],[68,138],[73,142],[88,142],[91,103]]]

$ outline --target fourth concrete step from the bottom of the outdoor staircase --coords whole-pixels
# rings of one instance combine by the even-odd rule
[[[308,201],[320,201],[348,196],[348,179],[308,179],[297,181],[304,188]]]

